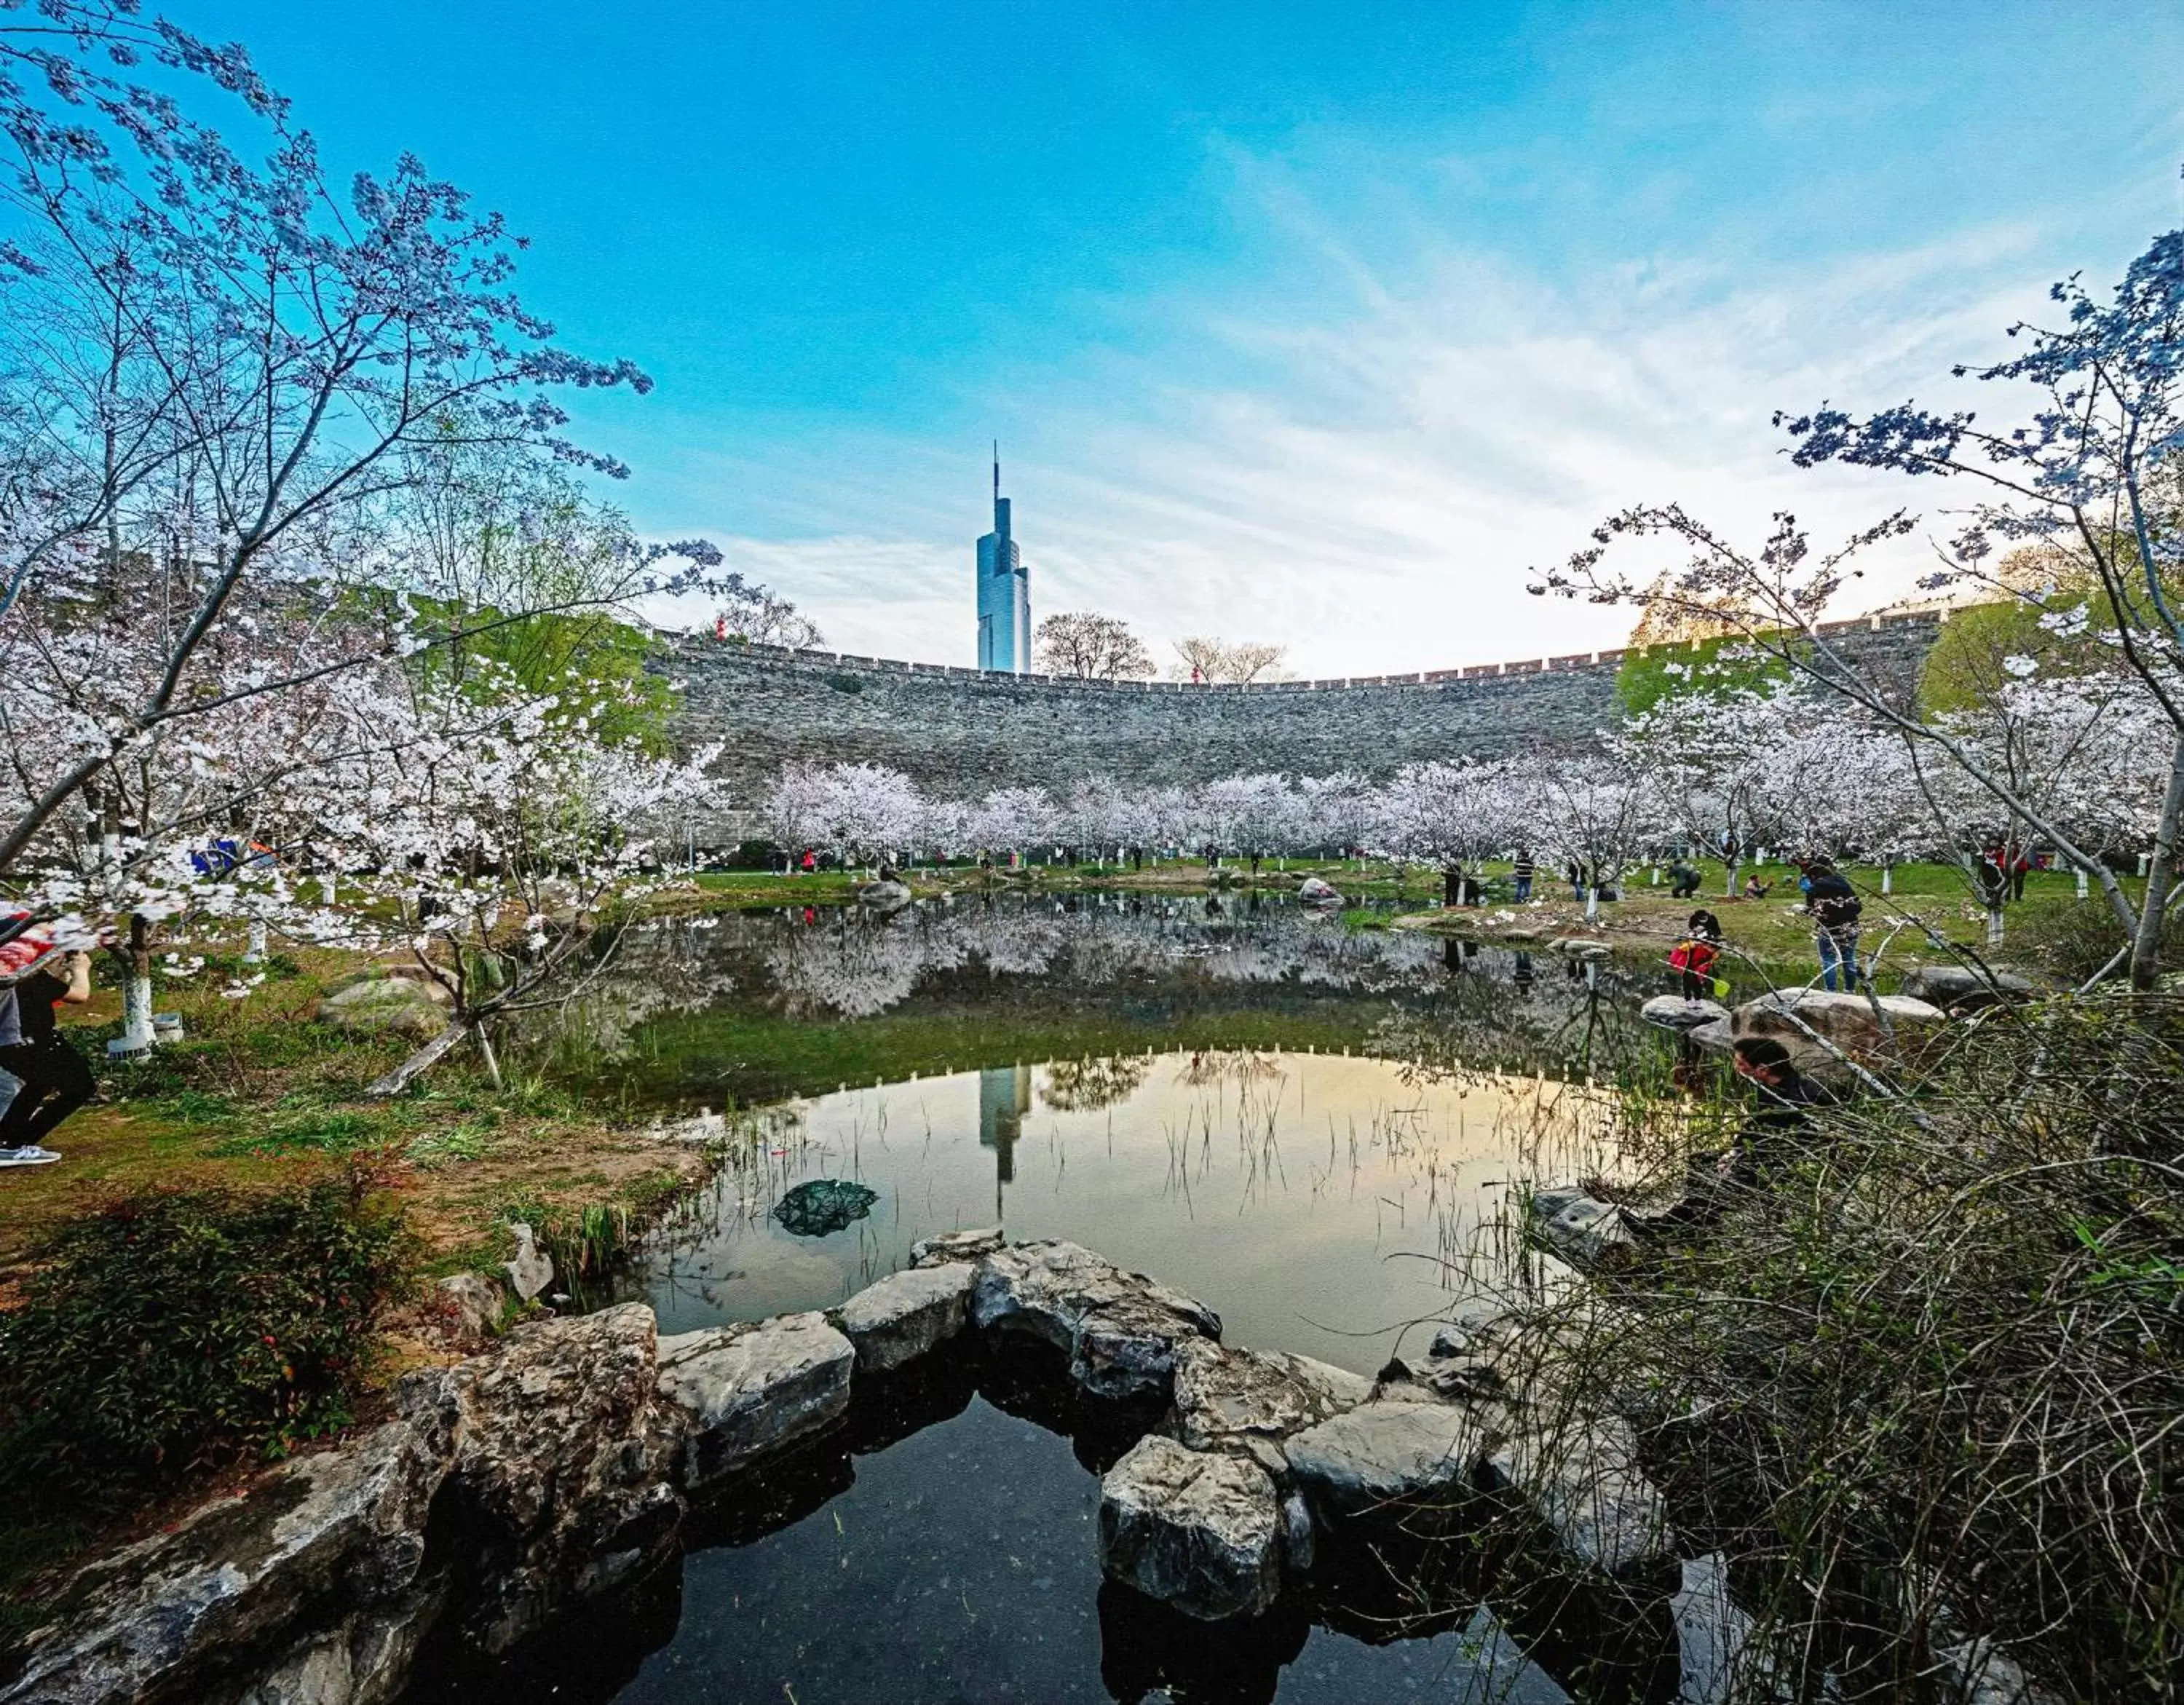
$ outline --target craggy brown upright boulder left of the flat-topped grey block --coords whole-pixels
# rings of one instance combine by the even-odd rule
[[[657,1332],[642,1303],[509,1332],[485,1356],[411,1373],[402,1412],[448,1441],[441,1487],[476,1563],[465,1637],[505,1650],[555,1609],[670,1554],[684,1502],[655,1402]]]

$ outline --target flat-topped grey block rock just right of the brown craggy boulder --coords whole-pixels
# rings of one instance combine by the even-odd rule
[[[679,1410],[681,1478],[703,1487],[834,1426],[856,1349],[826,1314],[708,1327],[660,1345],[660,1397]]]

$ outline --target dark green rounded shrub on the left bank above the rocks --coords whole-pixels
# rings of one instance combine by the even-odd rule
[[[363,1175],[70,1225],[0,1314],[0,1493],[116,1493],[343,1426],[400,1244]]]

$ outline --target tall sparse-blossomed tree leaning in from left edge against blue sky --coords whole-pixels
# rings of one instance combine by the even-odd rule
[[[135,81],[144,61],[199,81],[177,96]],[[194,114],[223,94],[262,164]],[[505,450],[616,476],[563,437],[555,393],[649,380],[553,343],[509,288],[520,242],[498,216],[411,155],[336,190],[240,48],[133,7],[0,13],[0,129],[13,146],[0,172],[0,670],[90,565],[109,581],[129,552],[168,568],[157,668],[0,823],[4,869],[131,742],[304,683],[210,666],[247,592],[339,609],[415,589],[417,557],[380,537],[415,456]],[[587,603],[703,585],[716,561],[699,541],[631,544]],[[343,640],[310,668],[411,644],[369,624]]]

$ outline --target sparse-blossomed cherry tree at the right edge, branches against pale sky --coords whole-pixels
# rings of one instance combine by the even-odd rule
[[[2162,712],[2162,723],[2145,731],[2164,764],[2140,902],[2132,902],[2105,860],[2051,808],[2011,786],[1992,751],[1974,749],[1963,729],[1922,714],[1902,690],[1861,672],[1819,631],[1830,600],[1863,572],[1861,559],[1915,530],[1907,511],[1815,552],[1793,515],[1778,515],[1773,533],[1747,548],[1677,504],[1640,504],[1607,517],[1592,544],[1542,574],[1533,592],[1597,603],[1649,594],[1653,603],[1725,624],[1894,727],[1933,764],[1959,771],[2007,819],[2014,836],[2055,847],[2099,884],[2129,937],[2116,965],[2127,963],[2134,987],[2147,989],[2160,971],[2162,919],[2184,891],[2177,882],[2184,823],[2184,504],[2177,502],[2184,231],[2158,236],[2110,297],[2094,297],[2073,277],[2057,284],[2051,299],[2057,323],[2009,327],[2022,354],[1957,369],[1959,378],[2025,386],[2031,400],[2020,424],[1987,426],[1963,408],[1937,413],[1918,404],[1874,415],[1821,404],[1776,419],[1791,434],[1793,461],[1802,467],[1848,463],[1970,487],[1974,502],[1957,517],[1955,535],[1942,546],[1944,565],[1926,587],[1970,585],[2018,600],[2044,627],[2110,646],[2116,666],[2138,677]],[[1655,581],[1649,572],[1610,565],[1610,552],[1649,539],[1682,550],[1682,568]],[[2003,559],[2025,544],[2060,552],[2075,568],[2070,579],[2090,583],[2092,596],[2081,596],[2062,576],[2022,585],[2001,572]]]

